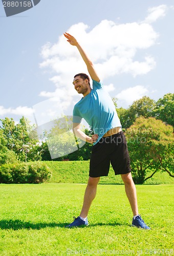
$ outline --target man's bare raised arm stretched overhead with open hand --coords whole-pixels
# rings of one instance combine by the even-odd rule
[[[97,82],[100,81],[100,78],[98,77],[95,69],[94,69],[94,65],[92,63],[92,61],[88,58],[88,56],[85,54],[84,50],[81,48],[81,46],[79,45],[79,43],[77,42],[77,40],[75,39],[74,36],[70,35],[69,33],[64,33],[63,34],[68,40],[68,42],[70,43],[70,45],[72,46],[76,46],[77,49],[79,50],[79,53],[82,57],[82,59],[84,60],[86,67],[88,69],[88,72],[91,76],[91,78]]]

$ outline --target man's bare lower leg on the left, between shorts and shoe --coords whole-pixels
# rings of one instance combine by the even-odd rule
[[[97,177],[97,178],[90,177],[88,180],[88,185],[84,193],[83,206],[80,213],[80,217],[82,218],[86,218],[88,216],[90,206],[96,196],[97,184],[99,180],[100,180],[100,177]]]

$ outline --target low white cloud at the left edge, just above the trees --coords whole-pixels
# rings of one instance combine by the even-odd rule
[[[28,108],[27,106],[18,106],[16,109],[13,109],[13,108],[5,109],[4,106],[0,106],[0,115],[4,116],[7,114],[31,116],[33,114],[33,109]]]

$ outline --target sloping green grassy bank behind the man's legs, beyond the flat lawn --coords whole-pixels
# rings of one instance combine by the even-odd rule
[[[87,183],[89,161],[46,161],[52,172],[49,183]],[[150,173],[149,175],[150,176]],[[158,172],[144,184],[174,183],[167,173]],[[111,166],[108,177],[101,177],[100,184],[123,184],[120,175],[115,176]]]

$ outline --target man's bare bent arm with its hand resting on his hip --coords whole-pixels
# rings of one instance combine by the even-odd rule
[[[80,123],[73,123],[73,133],[75,134],[76,137],[80,138],[81,140],[84,140],[88,143],[93,144],[94,142],[97,141],[98,135],[94,134],[92,137],[86,135],[80,130]]]

